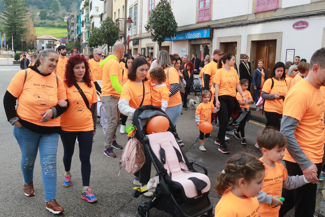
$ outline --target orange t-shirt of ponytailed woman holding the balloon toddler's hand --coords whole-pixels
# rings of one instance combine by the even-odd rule
[[[218,69],[213,82],[220,85],[218,96],[236,96],[236,86],[239,83],[239,77],[235,69],[230,69],[230,71],[226,71],[224,68]]]

